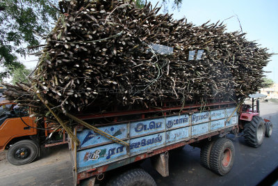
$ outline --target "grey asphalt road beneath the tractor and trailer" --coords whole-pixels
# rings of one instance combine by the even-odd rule
[[[233,169],[226,176],[218,176],[201,166],[200,150],[191,146],[170,152],[170,176],[167,178],[152,169],[149,160],[142,167],[151,174],[157,185],[257,185],[278,166],[278,103],[262,103],[261,116],[271,118],[274,123],[272,136],[265,137],[259,148],[246,146],[243,137],[233,139],[236,159]],[[234,138],[231,134],[227,137]],[[67,146],[61,146],[60,149],[64,153],[42,157],[42,160],[32,164],[41,165],[44,162],[43,165],[29,164],[25,166],[26,169],[24,166],[10,166],[6,160],[0,159],[0,185],[72,185],[72,164]],[[51,163],[45,162],[47,158]]]

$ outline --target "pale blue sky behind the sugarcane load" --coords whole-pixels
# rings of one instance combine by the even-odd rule
[[[155,5],[158,1],[151,0],[151,2]],[[179,11],[169,8],[169,13],[173,13],[173,18],[177,20],[186,17],[188,22],[193,22],[195,25],[204,24],[208,20],[211,22],[225,20],[227,31],[238,31],[241,24],[248,40],[256,40],[261,47],[267,47],[270,53],[278,54],[277,8],[277,0],[183,0]],[[226,20],[231,16],[234,17]],[[34,68],[37,62],[33,60],[35,60],[33,56],[27,56],[22,62],[27,68]],[[271,72],[265,75],[278,83],[278,55],[272,56],[270,60],[264,70]]]

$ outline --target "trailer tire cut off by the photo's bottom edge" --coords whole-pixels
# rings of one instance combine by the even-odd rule
[[[131,169],[108,181],[107,186],[156,186],[154,178],[143,169]]]

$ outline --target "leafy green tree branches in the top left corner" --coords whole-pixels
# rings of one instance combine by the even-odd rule
[[[40,37],[51,29],[50,20],[56,19],[56,9],[49,2],[58,0],[3,0],[0,1],[0,80],[24,66],[17,59],[25,56],[27,45],[40,44]]]

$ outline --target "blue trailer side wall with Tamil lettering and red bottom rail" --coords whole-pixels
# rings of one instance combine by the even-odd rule
[[[229,107],[98,127],[122,139],[129,147],[117,144],[92,130],[76,127],[74,132],[81,144],[72,146],[74,177],[79,177],[77,180],[88,178],[188,142],[219,134],[220,131],[231,130],[238,125],[235,110],[236,107]]]

